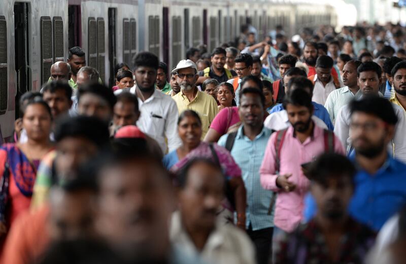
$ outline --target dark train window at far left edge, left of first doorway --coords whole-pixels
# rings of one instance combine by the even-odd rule
[[[7,111],[7,21],[0,16],[0,114]]]

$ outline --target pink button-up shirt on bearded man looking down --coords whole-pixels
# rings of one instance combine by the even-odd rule
[[[291,232],[303,219],[304,196],[309,189],[309,180],[303,175],[300,164],[310,162],[324,152],[323,128],[314,126],[313,136],[301,143],[293,137],[293,126],[286,132],[280,149],[280,175],[292,174],[289,181],[296,184],[294,191],[285,192],[276,185],[275,142],[277,133],[270,136],[259,173],[264,189],[278,192],[275,204],[274,223],[286,232]],[[343,145],[334,137],[334,151],[345,154]]]

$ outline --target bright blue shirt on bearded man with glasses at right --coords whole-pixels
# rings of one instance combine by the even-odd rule
[[[350,157],[355,160],[355,155]],[[375,175],[358,168],[355,175],[355,190],[348,210],[352,217],[374,230],[406,204],[406,164],[388,155],[388,159]],[[313,197],[306,199],[306,218],[316,212]]]

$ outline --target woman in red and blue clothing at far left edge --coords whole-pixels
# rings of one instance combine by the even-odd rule
[[[49,140],[52,115],[48,104],[36,97],[22,112],[27,142],[4,144],[0,148],[0,250],[13,221],[29,208],[38,166],[52,149]]]

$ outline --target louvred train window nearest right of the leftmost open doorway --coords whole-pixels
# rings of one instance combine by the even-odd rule
[[[46,83],[49,79],[52,56],[52,21],[50,17],[41,17],[41,80]]]

